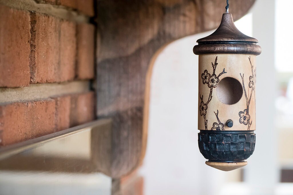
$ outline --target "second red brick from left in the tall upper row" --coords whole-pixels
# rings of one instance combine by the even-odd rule
[[[59,66],[59,30],[60,20],[40,13],[31,13],[30,56],[31,82],[56,82]]]

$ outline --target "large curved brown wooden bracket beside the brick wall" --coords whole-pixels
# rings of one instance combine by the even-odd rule
[[[231,1],[234,19],[247,13],[254,1]],[[97,1],[97,115],[113,119],[112,133],[105,138],[111,141],[112,162],[106,171],[111,177],[129,174],[144,157],[149,104],[146,82],[156,52],[176,39],[218,27],[225,3]]]

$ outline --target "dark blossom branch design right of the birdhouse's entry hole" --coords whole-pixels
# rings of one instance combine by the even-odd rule
[[[254,97],[255,97],[256,69],[253,70],[253,65],[251,63],[250,56],[248,57],[248,60],[250,62],[250,66],[251,66],[251,76],[249,76],[248,93],[246,93],[246,89],[244,86],[244,74],[241,75],[241,73],[240,73],[243,91],[244,91],[245,98],[246,98],[246,109],[244,109],[244,111],[239,112],[239,117],[240,117],[239,122],[243,123],[244,125],[248,125],[247,130],[249,131],[250,126],[252,124],[252,120],[250,120],[250,115],[249,115],[249,104],[250,104],[251,96],[252,96],[253,92],[254,92]],[[249,95],[249,89],[250,89],[250,95]]]

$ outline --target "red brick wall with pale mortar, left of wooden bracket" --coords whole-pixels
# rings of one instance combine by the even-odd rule
[[[0,146],[95,119],[93,7],[0,0]]]

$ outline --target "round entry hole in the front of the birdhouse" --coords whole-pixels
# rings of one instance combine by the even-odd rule
[[[238,80],[225,77],[217,84],[216,93],[222,103],[231,105],[241,99],[243,88]]]

